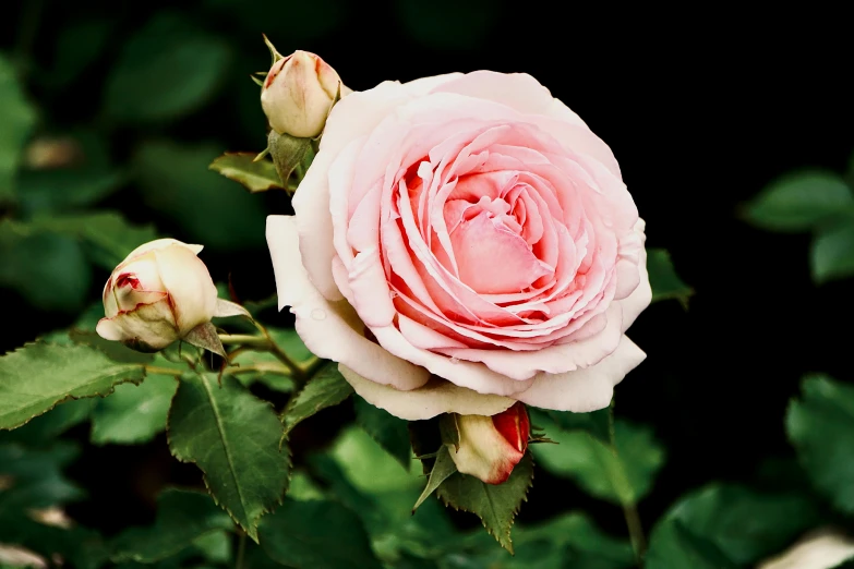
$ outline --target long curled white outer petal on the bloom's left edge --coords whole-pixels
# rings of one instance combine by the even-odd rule
[[[372,382],[405,391],[428,382],[426,370],[395,358],[368,340],[364,325],[346,301],[329,302],[314,288],[302,266],[293,217],[267,217],[267,244],[279,310],[291,307],[290,312],[297,316],[297,332],[315,355],[345,364]]]

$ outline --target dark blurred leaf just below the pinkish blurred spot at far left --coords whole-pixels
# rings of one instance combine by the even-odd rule
[[[92,205],[113,193],[124,182],[123,173],[106,169],[23,171],[17,179],[21,211],[25,216],[33,216]]]

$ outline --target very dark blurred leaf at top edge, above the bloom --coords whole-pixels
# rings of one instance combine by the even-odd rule
[[[501,13],[494,0],[396,0],[395,4],[408,35],[443,50],[481,46]]]

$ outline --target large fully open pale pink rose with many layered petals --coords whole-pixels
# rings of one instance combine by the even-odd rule
[[[407,420],[593,411],[643,352],[643,222],[611,149],[526,74],[385,82],[332,111],[270,216],[279,306]]]

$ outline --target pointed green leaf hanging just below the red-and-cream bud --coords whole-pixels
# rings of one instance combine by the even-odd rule
[[[533,461],[526,455],[503,484],[484,484],[474,476],[457,472],[442,483],[437,495],[446,506],[478,514],[486,531],[513,553],[510,528],[532,480]]]

